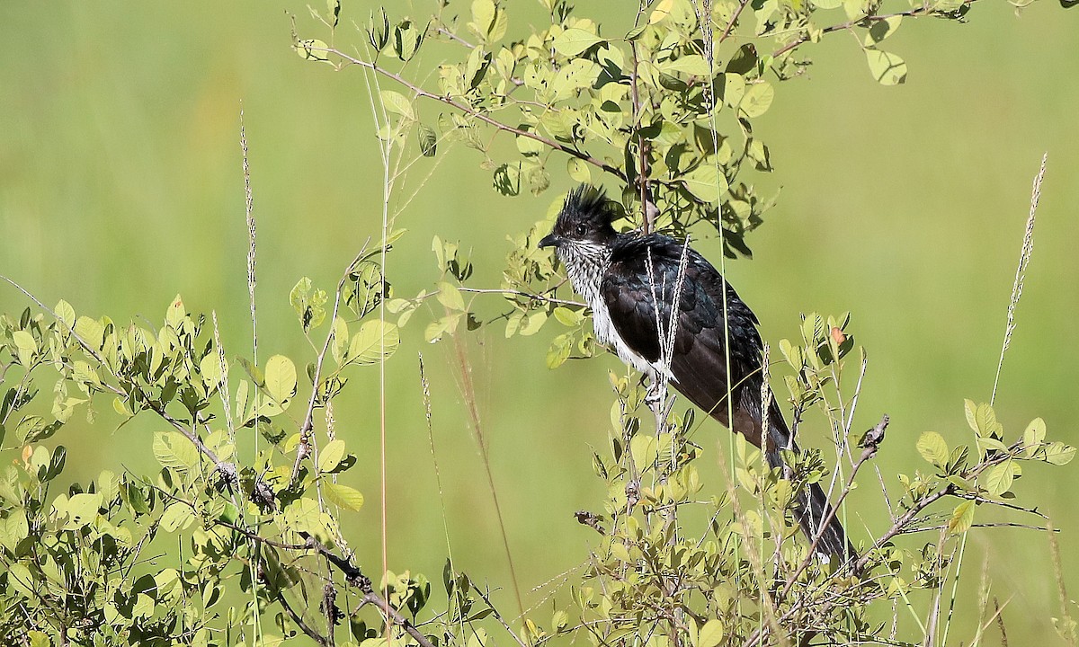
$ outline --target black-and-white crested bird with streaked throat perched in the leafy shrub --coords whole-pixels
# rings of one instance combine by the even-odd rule
[[[574,290],[591,308],[596,340],[652,385],[666,377],[697,408],[761,448],[771,468],[782,469],[781,451],[798,450],[775,398],[762,413],[756,316],[691,246],[657,233],[618,233],[612,224],[618,215],[601,189],[581,184],[570,191],[554,229],[538,244],[555,248]],[[820,556],[857,556],[819,483],[798,493],[793,512],[810,541],[820,535]]]

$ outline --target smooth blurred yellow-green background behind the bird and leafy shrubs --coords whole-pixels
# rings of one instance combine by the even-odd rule
[[[387,10],[429,15],[423,2],[412,4]],[[366,22],[378,6],[345,0],[341,42],[359,43],[352,20]],[[542,19],[537,3],[514,0],[510,9],[510,37]],[[578,13],[622,25],[625,17],[612,17],[617,11],[603,3]],[[325,38],[295,1],[0,3],[0,273],[45,303],[64,298],[80,315],[119,321],[160,320],[179,292],[192,312],[217,312],[232,355],[249,355],[242,104],[258,220],[260,358],[308,353],[288,291],[303,275],[331,290],[363,242],[378,237],[382,183],[363,75],[301,60],[290,50],[291,14],[301,37]],[[755,258],[729,262],[728,276],[773,345],[797,335],[800,313],[852,313],[851,329],[870,357],[855,428],[891,415],[879,458],[891,483],[896,472],[924,465],[914,451],[921,431],[967,442],[962,399],[989,397],[1030,180],[1044,151],[1034,258],[997,410],[1008,433],[1042,416],[1052,439],[1079,442],[1077,17],[1048,1],[1016,16],[1008,3],[985,0],[968,25],[909,20],[887,41],[911,69],[899,87],[877,85],[857,43],[835,33],[806,50],[815,61],[806,78],[778,85],[759,122],[776,167],[761,183],[782,192],[749,239]],[[432,70],[435,64],[427,60]],[[473,285],[497,287],[506,234],[542,218],[571,181],[554,164],[550,191],[507,198],[490,189],[474,151],[447,147],[436,160],[422,185],[436,162],[421,160],[398,195],[418,190],[397,220],[409,233],[390,257],[390,278],[400,295],[429,287],[438,234],[473,249]],[[718,259],[715,242],[700,247]],[[26,305],[0,287],[0,311]],[[492,299],[486,307],[497,305]],[[413,318],[386,366],[390,567],[437,581],[447,552],[421,399],[422,352],[456,565],[509,590],[453,352],[423,343],[426,320],[423,313]],[[529,590],[579,565],[595,540],[572,513],[601,500],[590,448],[606,439],[606,372],[622,370],[607,356],[548,371],[555,328],[506,342],[496,325],[468,346],[519,583],[536,605],[543,594]],[[374,573],[378,371],[357,372],[344,400],[339,433],[359,455],[351,484],[368,497],[345,528]],[[106,467],[149,467],[158,427],[73,423],[49,442],[68,445],[68,476],[85,479]],[[820,445],[819,431],[804,432],[804,444]],[[714,438],[726,446],[725,432]],[[1077,485],[1075,466],[1047,466],[1016,486],[1063,528],[1073,587]],[[864,490],[848,514],[879,528],[879,493]],[[864,527],[853,526],[856,540],[864,539]],[[983,554],[993,593],[1007,601],[1013,644],[1058,641],[1044,535],[988,529],[970,546],[951,642],[973,633],[975,619],[962,610],[975,604]]]

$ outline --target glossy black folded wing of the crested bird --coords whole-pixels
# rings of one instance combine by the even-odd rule
[[[728,427],[726,396],[732,390],[734,429],[760,446],[761,335],[756,317],[711,263],[692,248],[686,253],[670,358],[673,386]],[[666,236],[619,237],[600,285],[615,330],[648,361],[659,359],[660,335],[667,339],[682,254],[683,246]],[[786,438],[774,441],[784,442]]]

